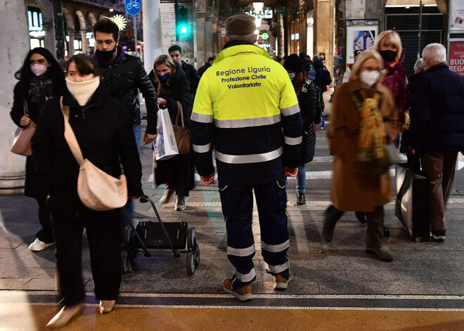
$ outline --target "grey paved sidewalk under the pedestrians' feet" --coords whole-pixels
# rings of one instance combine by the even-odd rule
[[[163,188],[146,180],[151,173],[151,151],[141,146],[143,190],[159,201]],[[333,242],[321,239],[323,211],[330,203],[326,194],[307,193],[307,205],[288,204],[293,281],[285,294],[414,294],[464,295],[464,197],[452,196],[446,211],[446,241],[412,242],[394,216],[392,203],[385,207],[385,223],[391,237],[385,246],[394,254],[392,263],[378,261],[364,251],[366,226],[346,213],[335,229]],[[294,193],[289,194],[289,199]],[[160,206],[164,221],[179,219],[194,226],[200,245],[200,265],[186,275],[186,254],[175,259],[169,250],[151,250],[152,257],[138,255],[135,270],[123,275],[123,293],[222,294],[222,280],[233,272],[226,258],[226,231],[219,193],[215,187],[191,192],[187,208],[174,211],[172,202]],[[155,215],[148,204],[136,202],[136,221]],[[34,200],[20,195],[0,196],[0,290],[56,290],[53,247],[33,253],[27,248],[39,229]],[[259,225],[254,211],[254,257],[257,294],[274,294],[273,279],[264,270],[260,254]],[[92,291],[89,251],[84,236],[83,276]],[[128,294],[129,295],[129,294]]]

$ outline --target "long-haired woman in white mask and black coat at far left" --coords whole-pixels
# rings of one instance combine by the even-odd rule
[[[19,80],[13,90],[13,108],[11,119],[16,125],[24,128],[37,123],[39,114],[48,98],[60,96],[65,86],[63,70],[46,48],[37,47],[29,51],[22,67],[15,73]],[[27,109],[28,114],[25,115]],[[49,211],[46,208],[46,191],[38,181],[34,169],[32,156],[26,157],[26,179],[24,195],[34,197],[39,205],[39,222],[41,229],[37,232],[36,240],[29,245],[32,251],[53,245],[53,231]]]

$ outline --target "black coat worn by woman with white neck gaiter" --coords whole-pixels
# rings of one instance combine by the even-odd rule
[[[70,124],[84,158],[112,176],[120,176],[120,162],[127,177],[129,196],[142,195],[142,167],[131,121],[120,100],[98,86],[84,110],[67,91],[63,105],[70,106]],[[34,164],[42,185],[50,193],[51,212],[77,216],[86,207],[77,195],[79,164],[65,141],[60,98],[47,101],[32,138]]]

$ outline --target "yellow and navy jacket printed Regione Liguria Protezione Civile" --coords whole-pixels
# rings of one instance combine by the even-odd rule
[[[234,46],[228,46],[228,45]],[[221,185],[269,183],[297,167],[302,117],[282,65],[247,41],[226,44],[200,79],[191,131],[198,174]]]

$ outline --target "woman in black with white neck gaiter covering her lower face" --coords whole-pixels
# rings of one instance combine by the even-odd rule
[[[143,195],[141,162],[131,120],[124,105],[105,93],[94,58],[79,54],[66,63],[63,105],[69,107],[69,123],[84,159],[108,174],[127,178],[129,198]],[[67,145],[61,98],[47,101],[32,139],[34,164],[42,185],[50,194],[55,234],[56,265],[64,307],[49,322],[62,327],[81,311],[82,233],[86,229],[91,256],[95,297],[101,313],[115,306],[121,283],[120,209],[96,212],[85,207],[77,194],[79,164]]]

